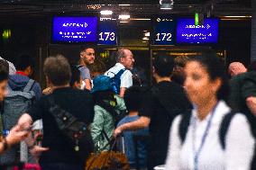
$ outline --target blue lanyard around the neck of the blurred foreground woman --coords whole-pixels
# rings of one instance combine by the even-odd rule
[[[203,138],[202,138],[202,141],[201,141],[201,144],[198,148],[198,150],[196,150],[196,125],[197,125],[197,119],[194,118],[192,120],[192,127],[193,127],[193,132],[192,132],[192,141],[193,141],[193,144],[192,144],[192,147],[193,147],[193,153],[194,153],[194,169],[195,170],[198,170],[198,159],[199,159],[199,155],[202,151],[202,148],[204,147],[205,143],[206,143],[206,137],[208,135],[208,132],[210,130],[210,127],[211,127],[211,124],[212,124],[212,120],[213,120],[213,117],[215,115],[215,109],[216,109],[216,106],[217,106],[218,103],[215,104],[215,107],[210,115],[210,118],[209,120],[207,121],[207,125],[206,125],[206,130],[204,132],[204,135],[203,135]]]

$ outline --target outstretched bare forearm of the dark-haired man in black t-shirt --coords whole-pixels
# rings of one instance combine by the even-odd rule
[[[151,123],[151,118],[142,116],[137,121],[124,123],[114,130],[114,137],[120,135],[124,130],[138,130],[149,127]]]

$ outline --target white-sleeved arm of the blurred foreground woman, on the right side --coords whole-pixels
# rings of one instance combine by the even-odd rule
[[[236,114],[231,121],[225,139],[225,170],[251,169],[254,143],[246,117]]]

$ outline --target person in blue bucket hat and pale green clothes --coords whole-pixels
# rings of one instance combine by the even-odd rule
[[[108,139],[115,128],[115,118],[125,111],[123,98],[114,94],[109,76],[96,76],[91,91],[95,101],[95,117],[91,124],[91,134],[96,152],[109,149]],[[106,146],[106,147],[105,147]]]

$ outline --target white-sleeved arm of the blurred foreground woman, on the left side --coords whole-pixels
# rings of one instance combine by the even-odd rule
[[[178,135],[178,126],[180,123],[181,116],[178,116],[174,119],[171,129],[169,130],[169,149],[165,162],[165,169],[168,170],[179,170],[179,160],[180,160],[180,150],[181,150],[181,141]]]

